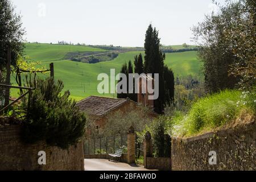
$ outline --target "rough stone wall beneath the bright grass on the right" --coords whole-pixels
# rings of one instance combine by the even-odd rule
[[[172,170],[256,170],[255,122],[187,139],[172,138]],[[216,165],[209,152],[216,151]]]

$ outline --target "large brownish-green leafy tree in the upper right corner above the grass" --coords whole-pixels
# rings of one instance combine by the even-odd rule
[[[255,1],[227,0],[218,6],[217,14],[206,15],[192,28],[204,62],[205,89],[251,87],[256,80]]]

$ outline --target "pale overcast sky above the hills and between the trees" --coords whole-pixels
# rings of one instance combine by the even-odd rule
[[[224,0],[222,0],[224,1]],[[148,24],[161,43],[191,43],[191,27],[216,7],[212,0],[13,0],[28,42],[143,46]]]

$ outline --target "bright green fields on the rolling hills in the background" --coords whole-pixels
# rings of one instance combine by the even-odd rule
[[[47,68],[49,63],[54,63],[55,79],[60,79],[64,82],[64,90],[71,92],[72,98],[81,100],[90,95],[99,95],[97,92],[97,81],[99,73],[107,73],[110,75],[110,69],[115,69],[115,74],[118,74],[121,65],[129,60],[134,60],[134,56],[139,52],[119,53],[119,56],[112,61],[104,61],[96,64],[80,63],[70,60],[61,60],[67,52],[72,51],[105,51],[97,48],[84,46],[59,46],[51,44],[26,44],[26,53],[33,60],[40,60]],[[196,58],[195,51],[167,53],[166,64],[171,67],[175,76],[199,75],[201,63]],[[41,77],[48,76],[39,74]],[[14,78],[12,79],[15,84]],[[17,93],[12,92],[13,96]],[[104,96],[115,97],[112,94]]]

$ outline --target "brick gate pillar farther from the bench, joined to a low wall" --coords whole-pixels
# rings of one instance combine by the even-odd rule
[[[149,131],[145,134],[145,138],[143,140],[143,150],[144,150],[144,168],[147,168],[147,157],[153,156],[153,144],[151,139],[151,134]]]

